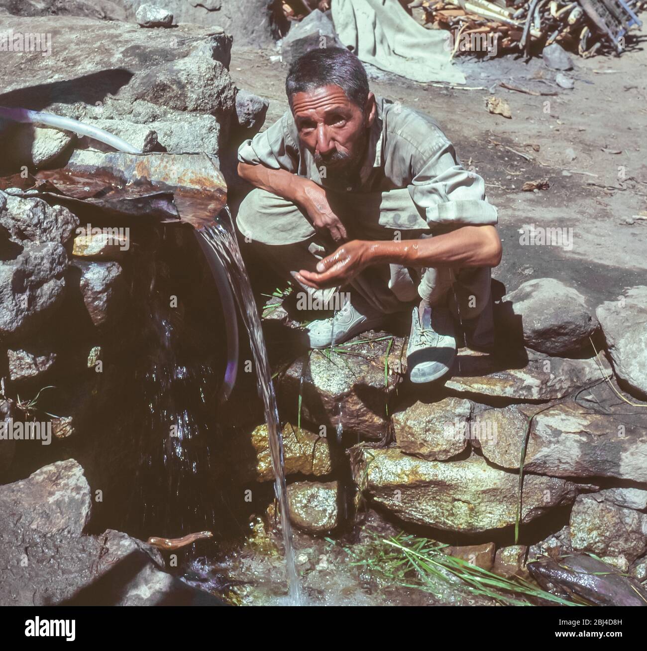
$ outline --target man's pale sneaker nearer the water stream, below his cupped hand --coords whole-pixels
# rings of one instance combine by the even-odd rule
[[[310,348],[327,348],[332,346],[333,336],[335,344],[341,344],[355,335],[381,326],[387,315],[370,307],[363,299],[354,296],[352,301],[346,301],[334,316],[327,319],[313,321],[306,335],[310,341]]]

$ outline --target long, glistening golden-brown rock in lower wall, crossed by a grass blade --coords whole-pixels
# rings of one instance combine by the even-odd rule
[[[353,453],[356,484],[405,521],[464,533],[501,529],[516,521],[518,475],[492,467],[480,456],[439,462],[397,448],[354,448]],[[572,504],[587,488],[557,477],[525,475],[522,521]]]

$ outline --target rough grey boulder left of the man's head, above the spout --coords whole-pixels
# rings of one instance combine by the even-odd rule
[[[235,87],[229,72],[207,57],[187,57],[144,70],[122,92],[178,111],[211,113],[220,120],[235,110]]]

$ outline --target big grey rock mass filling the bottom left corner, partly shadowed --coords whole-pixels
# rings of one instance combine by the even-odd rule
[[[83,535],[90,505],[73,459],[0,486],[0,605],[200,602],[200,593],[161,570],[153,547],[111,529]]]

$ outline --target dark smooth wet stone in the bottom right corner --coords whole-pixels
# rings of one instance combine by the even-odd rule
[[[537,583],[553,594],[570,598],[573,594],[594,605],[644,606],[647,590],[635,579],[587,554],[574,554],[559,562],[538,559],[528,563]]]

